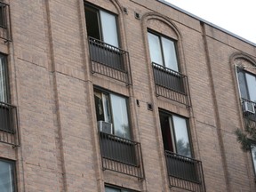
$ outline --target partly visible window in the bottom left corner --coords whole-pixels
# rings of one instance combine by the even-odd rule
[[[1,192],[16,191],[14,185],[14,162],[0,159],[0,188]]]

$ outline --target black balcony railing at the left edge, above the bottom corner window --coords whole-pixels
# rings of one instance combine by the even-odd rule
[[[20,146],[17,109],[4,102],[0,102],[0,142]]]

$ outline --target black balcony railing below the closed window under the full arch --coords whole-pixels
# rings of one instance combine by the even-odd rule
[[[152,67],[156,84],[156,95],[189,106],[187,76],[154,62],[152,62]]]

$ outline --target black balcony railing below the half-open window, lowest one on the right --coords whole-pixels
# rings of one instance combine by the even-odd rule
[[[188,191],[204,192],[204,172],[201,161],[165,151],[170,186]]]

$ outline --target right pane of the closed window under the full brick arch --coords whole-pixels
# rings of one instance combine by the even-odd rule
[[[177,55],[174,43],[162,37],[163,51],[164,51],[164,64],[166,68],[179,71],[177,63]]]

